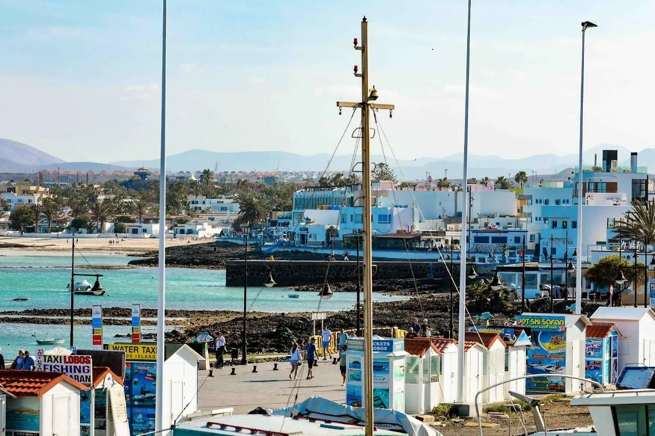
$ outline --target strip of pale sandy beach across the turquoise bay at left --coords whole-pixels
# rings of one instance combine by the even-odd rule
[[[109,241],[114,244],[109,244]],[[118,241],[116,244],[115,242]],[[166,240],[166,247],[178,245],[206,244],[214,241],[214,238],[192,238],[181,237]],[[0,237],[0,250],[19,248],[14,244],[20,244],[20,249],[38,251],[70,251],[70,238],[26,238],[21,236]],[[137,254],[159,248],[159,239],[124,239],[116,240],[111,238],[79,238],[75,240],[75,247],[84,251],[101,251],[109,253]]]

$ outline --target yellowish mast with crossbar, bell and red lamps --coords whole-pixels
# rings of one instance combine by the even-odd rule
[[[355,50],[362,52],[362,72],[354,67],[355,77],[362,78],[362,102],[337,101],[339,113],[342,107],[359,107],[362,109],[362,282],[364,285],[364,391],[362,401],[364,406],[365,435],[373,435],[373,250],[371,247],[371,149],[370,149],[370,109],[385,109],[392,111],[394,105],[371,103],[377,100],[375,86],[368,87],[368,22],[362,19],[362,45],[354,39]]]

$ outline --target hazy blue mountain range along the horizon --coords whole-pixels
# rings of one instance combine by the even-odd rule
[[[611,144],[601,144],[584,151],[583,158],[585,165],[594,162],[594,154],[597,154],[597,164],[601,164],[603,150],[612,149],[618,151],[619,164],[629,166],[630,151],[625,147]],[[438,179],[447,174],[449,179],[462,177],[462,153],[451,154],[443,158],[422,157],[415,159],[403,158],[397,155],[399,160],[393,156],[386,156],[386,162],[396,172],[399,179],[415,180],[425,179],[426,174]],[[193,149],[178,154],[167,156],[166,166],[171,172],[197,171],[210,168],[212,171],[217,168],[221,171],[307,171],[322,172],[348,172],[352,155],[341,154],[331,158],[330,154],[312,154],[310,156],[287,153],[283,151],[239,151],[239,152],[218,152]],[[360,160],[358,156],[355,161]],[[385,162],[384,156],[371,156],[373,162]],[[655,149],[645,149],[639,152],[639,166],[655,168]],[[494,179],[499,175],[507,177],[518,171],[525,171],[532,175],[535,171],[538,174],[553,174],[563,172],[567,168],[577,165],[578,154],[571,153],[565,156],[555,154],[536,154],[525,158],[502,158],[500,156],[484,156],[479,154],[468,155],[468,176],[469,177],[490,177]],[[329,163],[329,166],[328,166]],[[146,166],[153,170],[159,168],[159,158],[153,160],[125,160],[118,162],[65,162],[64,160],[44,153],[30,145],[0,138],[0,172],[10,173],[33,173],[39,170],[56,170],[60,168],[63,173],[86,172],[94,170],[128,170]]]

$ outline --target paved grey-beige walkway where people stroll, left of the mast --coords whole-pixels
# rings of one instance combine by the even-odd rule
[[[300,402],[314,395],[345,403],[346,388],[341,386],[339,365],[332,365],[331,360],[318,361],[312,380],[306,380],[307,363],[298,369],[298,380],[289,379],[288,361],[278,362],[278,371],[273,371],[273,365],[257,363],[255,373],[252,364],[225,366],[215,369],[213,378],[207,376],[209,371],[198,371],[198,409],[234,407],[234,413],[247,413],[258,406],[282,409],[293,401]],[[230,375],[232,368],[236,369],[234,376]]]

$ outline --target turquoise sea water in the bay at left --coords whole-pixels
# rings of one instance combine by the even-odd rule
[[[117,254],[84,253],[90,264],[126,265],[130,257]],[[75,263],[83,259],[75,255]],[[0,311],[25,310],[29,308],[69,308],[70,293],[66,289],[71,280],[70,255],[67,253],[34,253],[11,251],[10,255],[0,251]],[[93,273],[92,270],[76,272]],[[78,295],[75,307],[90,308],[92,304],[104,307],[128,307],[140,303],[143,308],[157,307],[157,268],[136,268],[128,270],[98,270],[102,285],[107,293],[102,297]],[[92,283],[93,278],[87,278]],[[290,299],[290,289],[284,287],[249,287],[248,308],[261,312],[311,312],[317,310],[320,299],[318,289],[301,292],[299,298]],[[12,301],[24,297],[28,301]],[[379,301],[398,300],[374,294]],[[330,300],[320,303],[320,310],[333,311],[352,308],[354,293],[335,293]],[[166,268],[166,308],[188,310],[243,310],[243,288],[225,287],[224,270],[196,268]],[[88,347],[91,342],[90,325],[75,327],[75,343]],[[143,327],[144,333],[155,327]],[[105,326],[105,342],[116,333],[129,333],[128,326]],[[36,338],[62,337],[68,343],[68,325],[0,324],[0,346],[5,359],[18,348],[34,348]],[[78,333],[79,332],[79,333]],[[31,335],[37,335],[33,337]]]

